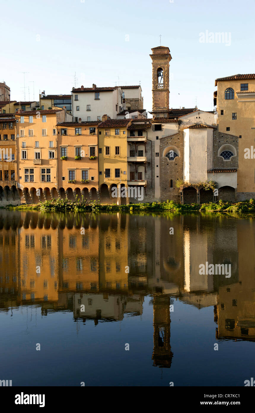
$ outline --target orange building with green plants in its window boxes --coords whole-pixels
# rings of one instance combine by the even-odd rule
[[[98,137],[100,121],[57,125],[58,192],[74,199],[98,200]]]

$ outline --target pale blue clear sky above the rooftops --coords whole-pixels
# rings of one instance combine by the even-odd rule
[[[22,72],[26,100],[70,94],[75,73],[76,87],[140,84],[150,111],[161,35],[172,56],[169,107],[213,110],[216,78],[255,72],[254,12],[254,0],[2,2],[0,81],[18,101]]]

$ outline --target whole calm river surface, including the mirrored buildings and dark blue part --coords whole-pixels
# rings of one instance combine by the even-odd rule
[[[0,331],[13,386],[243,386],[255,221],[0,210]]]

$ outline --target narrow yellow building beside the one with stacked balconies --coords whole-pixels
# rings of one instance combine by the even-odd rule
[[[131,119],[106,119],[104,115],[102,120],[98,126],[99,190],[102,200],[109,202],[112,188],[127,188],[127,128]],[[116,203],[125,202],[125,197],[114,199]]]

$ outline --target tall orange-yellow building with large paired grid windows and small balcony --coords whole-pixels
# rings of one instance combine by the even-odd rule
[[[27,203],[58,197],[56,124],[65,109],[18,111],[16,114],[17,186]],[[22,194],[20,194],[22,196]]]

